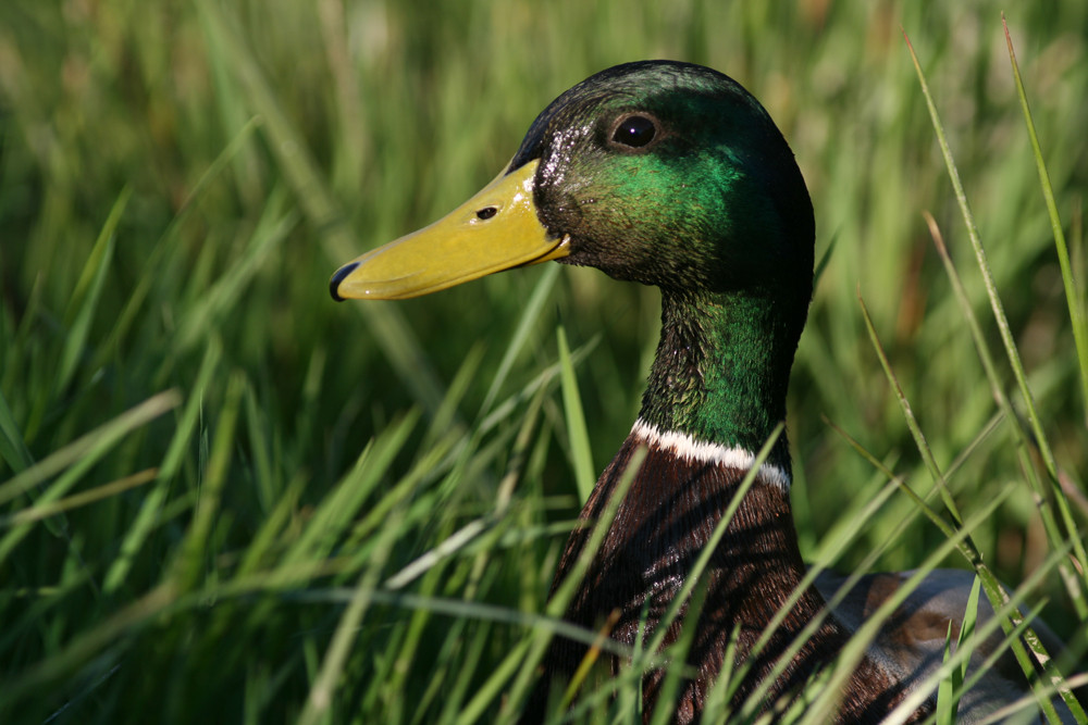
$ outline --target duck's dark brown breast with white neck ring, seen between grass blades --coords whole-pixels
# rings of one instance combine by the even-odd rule
[[[702,455],[685,455],[678,451],[681,445],[675,437],[668,440],[648,426],[636,424],[606,468],[582,511],[582,517],[589,521],[601,516],[634,451],[640,447],[647,449],[597,558],[567,611],[566,618],[570,622],[599,630],[604,615],[618,612],[618,616],[613,615],[611,637],[633,647],[640,627],[645,627],[645,640],[679,595],[689,571],[751,467],[751,461],[745,466],[741,457],[720,455],[724,451],[705,446],[700,449]],[[704,575],[706,598],[688,653],[688,664],[697,670],[698,677],[687,680],[678,700],[670,703],[676,709],[676,722],[697,718],[738,624],[735,661],[749,666],[734,697],[739,704],[768,676],[782,652],[824,609],[819,593],[806,590],[791,605],[771,639],[753,655],[756,640],[778,611],[788,605],[805,574],[790,515],[789,493],[780,474],[770,466],[761,472],[715,549]],[[556,585],[578,559],[589,533],[589,528],[579,529],[568,541]],[[687,609],[684,605],[668,625],[666,647],[679,636]],[[837,620],[827,620],[769,688],[766,701],[774,703],[799,691],[809,677],[833,661],[849,636]],[[545,676],[559,682],[569,678],[584,655],[584,646],[556,640],[548,652]],[[610,664],[618,671],[625,662],[614,658]],[[657,704],[663,678],[664,672],[655,671],[643,679],[643,712],[647,721]],[[845,722],[879,722],[902,696],[897,683],[873,662],[865,661],[853,679],[853,687],[840,705]],[[546,697],[544,686],[536,692],[536,707],[530,707],[528,712],[544,712],[541,700]],[[532,717],[527,722],[532,722]]]

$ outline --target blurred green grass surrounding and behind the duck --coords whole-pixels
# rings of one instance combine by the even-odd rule
[[[1009,23],[1083,272],[1088,5]],[[334,304],[327,279],[463,200],[547,102],[625,61],[703,63],[755,93],[808,182],[817,259],[833,247],[790,401],[806,551],[856,530],[849,570],[914,511],[893,497],[854,517],[883,482],[823,416],[930,488],[858,287],[938,461],[977,442],[951,478],[961,508],[1019,479],[1007,425],[976,441],[997,409],[923,211],[999,338],[901,26],[1083,501],[1085,401],[996,3],[0,4],[0,716],[495,712],[473,697],[527,625],[481,603],[540,612],[579,509],[557,325],[598,471],[638,412],[656,291],[533,267]],[[976,533],[1010,584],[1048,553],[1016,490]],[[880,567],[942,538],[919,521]],[[1051,579],[1046,618],[1081,636]]]

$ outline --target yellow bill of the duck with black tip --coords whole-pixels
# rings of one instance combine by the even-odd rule
[[[570,253],[536,216],[532,161],[500,174],[434,224],[345,264],[329,288],[336,300],[399,300],[436,292],[493,272]]]

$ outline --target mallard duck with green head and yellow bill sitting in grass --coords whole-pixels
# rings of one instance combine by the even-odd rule
[[[633,452],[647,452],[566,614],[599,629],[618,613],[610,636],[632,645],[644,609],[645,627],[656,628],[756,451],[786,417],[813,291],[814,237],[813,207],[793,153],[755,98],[698,65],[629,63],[559,96],[497,178],[435,224],[341,267],[331,291],[336,300],[409,298],[549,260],[660,288],[662,336],[640,415],[583,518],[598,517]],[[734,628],[735,658],[751,659],[738,704],[769,677],[838,588],[840,580],[828,574],[804,590],[750,658],[806,573],[790,483],[782,436],[704,574],[708,588],[689,653],[698,674],[677,700],[663,703],[675,708],[677,722],[698,718]],[[570,536],[557,583],[589,530]],[[863,579],[771,683],[766,707],[833,662],[851,632],[904,577]],[[949,624],[955,632],[962,622],[972,577],[938,571],[911,595],[846,683],[841,721],[881,720],[940,663]],[[992,614],[987,604],[981,609],[981,618]],[[669,626],[666,645],[682,620]],[[1000,640],[980,645],[976,662]],[[568,678],[584,654],[584,645],[553,642],[528,721],[542,716],[549,683]],[[611,665],[623,663],[617,658]],[[961,718],[1026,691],[1015,673],[1006,679],[1003,672],[991,670],[968,693]],[[643,680],[647,718],[662,679],[657,672]],[[915,717],[932,708],[931,697]]]

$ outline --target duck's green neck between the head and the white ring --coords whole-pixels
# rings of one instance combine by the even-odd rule
[[[662,338],[641,422],[660,434],[754,454],[786,418],[786,392],[804,312],[800,322],[792,320],[795,316],[780,291],[776,296],[663,289]],[[767,463],[789,477],[784,435]]]

